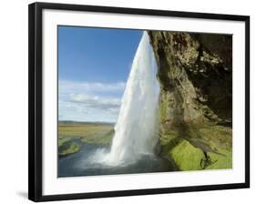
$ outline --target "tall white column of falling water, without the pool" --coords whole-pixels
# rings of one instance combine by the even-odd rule
[[[158,141],[159,82],[157,64],[147,32],[133,59],[110,153],[108,165],[134,163],[152,154]]]

